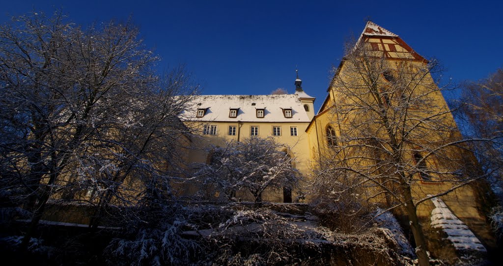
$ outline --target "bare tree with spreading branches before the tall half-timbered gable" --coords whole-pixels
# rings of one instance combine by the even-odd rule
[[[481,176],[434,79],[439,70],[435,60],[389,60],[363,40],[349,44],[330,86],[328,148],[314,171],[319,193],[400,207],[420,265],[429,260],[417,206]],[[442,189],[422,193],[423,181]]]

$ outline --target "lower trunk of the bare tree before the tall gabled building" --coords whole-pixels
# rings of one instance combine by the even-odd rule
[[[414,236],[415,254],[417,255],[420,266],[428,266],[430,265],[430,260],[427,253],[426,239],[421,229],[421,224],[417,219],[416,206],[412,201],[410,187],[405,188],[403,194],[403,196],[405,196],[405,209],[407,211],[410,229],[412,230],[412,235]]]

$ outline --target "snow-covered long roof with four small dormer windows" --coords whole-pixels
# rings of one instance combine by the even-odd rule
[[[306,97],[304,97],[304,95]],[[281,95],[201,95],[192,106],[180,115],[183,120],[221,122],[309,122],[300,98],[312,98],[307,94]],[[238,109],[235,118],[229,117],[230,109]],[[197,117],[197,110],[205,115]],[[257,117],[257,109],[264,110],[264,118]],[[292,117],[286,118],[283,109],[292,109]]]

